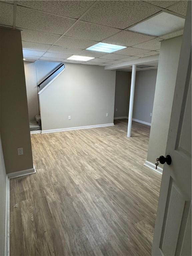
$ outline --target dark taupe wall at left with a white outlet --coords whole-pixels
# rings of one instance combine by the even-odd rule
[[[11,173],[33,168],[33,159],[21,32],[0,28],[0,38],[0,131],[6,171]]]

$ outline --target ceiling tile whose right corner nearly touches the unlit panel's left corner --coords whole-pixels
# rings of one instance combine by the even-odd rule
[[[97,24],[79,21],[65,35],[87,40],[101,41],[106,37],[118,33],[120,30]]]

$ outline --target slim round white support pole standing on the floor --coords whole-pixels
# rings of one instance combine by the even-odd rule
[[[136,65],[133,65],[132,75],[131,75],[131,92],[130,92],[130,102],[129,102],[129,119],[128,119],[127,137],[131,137],[133,101],[134,101],[134,91],[135,91],[135,75],[136,75]]]

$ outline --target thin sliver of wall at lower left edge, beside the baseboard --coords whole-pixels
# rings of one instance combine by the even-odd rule
[[[5,201],[6,201],[6,171],[0,137],[0,255],[4,255],[5,247]]]

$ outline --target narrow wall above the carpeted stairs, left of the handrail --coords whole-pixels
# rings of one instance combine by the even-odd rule
[[[35,62],[24,61],[25,81],[27,89],[27,103],[29,120],[35,120],[35,115],[39,114],[38,94],[37,94],[37,74]]]

